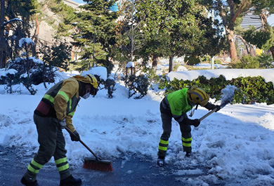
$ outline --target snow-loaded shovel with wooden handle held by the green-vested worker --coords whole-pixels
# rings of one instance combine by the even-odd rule
[[[228,105],[229,102],[231,102],[233,100],[234,97],[234,91],[237,89],[237,87],[235,86],[226,86],[226,88],[223,88],[221,90],[221,93],[223,93],[222,95],[222,99],[221,99],[221,108],[225,107],[226,105]],[[205,119],[206,117],[208,117],[210,114],[212,114],[213,112],[216,112],[218,108],[212,109],[209,113],[205,114],[203,117],[200,118],[200,121],[202,121],[203,119]]]

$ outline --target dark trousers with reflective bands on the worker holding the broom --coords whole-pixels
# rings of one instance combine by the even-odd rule
[[[65,150],[65,138],[63,132],[58,128],[58,120],[52,117],[39,117],[34,114],[34,123],[37,126],[38,142],[40,144],[37,154],[27,167],[24,177],[27,181],[36,180],[39,170],[46,164],[51,157],[54,157],[56,166],[63,180],[71,175],[67,163]]]

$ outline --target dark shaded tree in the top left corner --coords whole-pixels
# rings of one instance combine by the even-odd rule
[[[1,1],[0,68],[6,67],[7,60],[20,54],[19,40],[30,37],[30,21],[36,8],[36,0]]]

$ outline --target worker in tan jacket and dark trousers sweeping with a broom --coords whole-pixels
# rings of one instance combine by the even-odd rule
[[[70,135],[71,140],[79,141],[80,136],[72,125],[72,117],[79,100],[96,95],[97,88],[96,77],[86,74],[60,81],[46,92],[34,111],[40,146],[21,179],[23,185],[38,185],[37,173],[51,157],[54,157],[60,173],[60,186],[81,185],[81,179],[74,178],[70,173],[62,129],[67,126],[74,133]]]

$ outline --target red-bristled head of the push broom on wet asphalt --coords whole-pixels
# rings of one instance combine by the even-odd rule
[[[92,169],[96,171],[113,171],[112,164],[110,161],[91,158],[84,159],[83,168]]]

